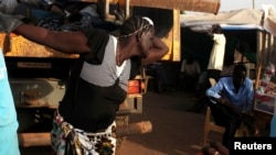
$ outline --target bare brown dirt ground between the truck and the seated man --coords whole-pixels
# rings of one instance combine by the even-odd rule
[[[142,113],[130,114],[129,123],[150,121],[152,131],[127,136],[117,155],[194,155],[202,147],[203,113],[188,112],[193,93],[169,91],[144,96]],[[221,136],[214,133],[213,139]],[[22,155],[52,155],[50,146],[21,148]]]

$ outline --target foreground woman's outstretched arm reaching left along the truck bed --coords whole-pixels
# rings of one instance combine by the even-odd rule
[[[83,54],[91,51],[83,32],[54,32],[41,26],[21,24],[13,33],[35,43],[52,47],[66,54]]]

